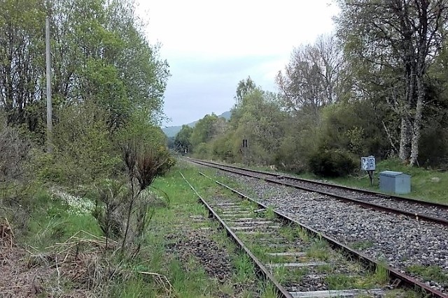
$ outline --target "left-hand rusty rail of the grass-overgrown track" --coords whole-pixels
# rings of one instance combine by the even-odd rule
[[[263,265],[262,262],[260,262],[260,260],[258,260],[258,258],[255,257],[255,255],[253,255],[253,253],[247,248],[247,246],[244,245],[244,243],[241,241],[241,239],[239,239],[237,237],[237,234],[235,234],[235,232],[233,232],[229,228],[229,226],[223,221],[223,219],[220,216],[218,216],[218,214],[216,214],[214,209],[201,197],[201,195],[199,193],[197,193],[195,188],[190,184],[190,182],[188,182],[186,177],[183,176],[183,174],[181,172],[179,172],[179,173],[181,174],[182,178],[186,181],[188,186],[190,186],[190,188],[193,190],[193,192],[197,195],[197,198],[199,198],[200,202],[208,209],[209,215],[211,217],[215,218],[216,221],[218,221],[218,223],[221,225],[221,227],[223,227],[225,229],[225,231],[232,238],[232,240],[235,241],[235,243],[251,258],[251,260],[255,264],[255,266],[258,267],[258,275],[262,276],[263,278],[265,278],[265,279],[267,279],[269,281],[271,281],[275,285],[276,292],[279,295],[279,297],[293,298],[293,296],[290,295],[288,290],[283,288],[283,285],[281,285],[274,278],[274,276],[269,273],[269,271],[267,270],[265,265]]]

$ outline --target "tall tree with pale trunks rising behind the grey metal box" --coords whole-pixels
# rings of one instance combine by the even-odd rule
[[[444,0],[339,1],[338,35],[346,54],[368,61],[377,70],[400,73],[402,88],[389,89],[388,99],[400,116],[400,152],[409,165],[417,162],[426,101],[425,75],[440,52]],[[390,72],[393,74],[393,72]]]

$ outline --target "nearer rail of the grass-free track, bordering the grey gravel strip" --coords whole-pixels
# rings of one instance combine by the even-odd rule
[[[257,176],[252,175],[252,174],[226,169],[225,167],[230,167],[228,165],[218,165],[218,164],[215,164],[215,163],[209,163],[209,162],[203,162],[203,161],[195,161],[195,160],[192,160],[192,161],[194,163],[198,163],[200,165],[207,165],[209,167],[215,167],[215,168],[217,168],[219,170],[223,170],[223,171],[226,171],[226,172],[232,172],[232,173],[235,173],[235,174],[241,174],[241,175],[244,175],[246,177],[251,177],[251,178],[256,178],[256,179],[263,179],[265,181],[269,181],[269,182],[274,183],[274,184],[279,184],[279,185],[283,185],[283,186],[289,186],[289,187],[293,187],[293,188],[297,188],[297,189],[302,189],[304,191],[312,191],[314,193],[320,193],[322,195],[328,195],[329,197],[336,198],[337,200],[342,200],[344,202],[352,202],[354,204],[358,204],[358,205],[366,207],[366,208],[376,209],[376,210],[379,210],[379,211],[386,211],[386,212],[390,212],[390,213],[393,213],[393,214],[405,215],[405,216],[408,216],[410,218],[415,218],[417,221],[423,220],[423,221],[428,221],[428,222],[431,222],[431,223],[438,223],[440,225],[447,225],[448,226],[448,221],[445,220],[445,219],[442,219],[442,218],[436,218],[436,217],[428,216],[428,215],[425,215],[425,214],[409,212],[409,211],[405,211],[405,210],[402,210],[402,209],[396,209],[396,208],[393,208],[393,207],[386,207],[386,206],[382,206],[382,205],[371,203],[371,202],[365,202],[363,200],[347,198],[347,197],[344,197],[343,195],[337,195],[335,193],[329,193],[328,191],[319,191],[318,189],[314,189],[314,188],[307,188],[307,187],[304,187],[304,186],[298,186],[298,185],[295,185],[295,184],[289,184],[288,182],[281,181],[281,180],[278,180],[278,179],[261,178],[261,177],[257,177]],[[232,168],[238,169],[238,170],[246,170],[246,169],[239,168],[239,167],[232,167]],[[247,171],[248,172],[255,172],[254,170],[247,170]],[[332,186],[332,185],[330,184],[330,186]],[[354,188],[354,189],[356,189],[356,188]],[[417,201],[419,201],[419,200],[417,200]],[[421,202],[421,201],[419,201],[419,202]]]

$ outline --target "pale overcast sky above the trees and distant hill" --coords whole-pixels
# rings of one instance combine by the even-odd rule
[[[234,105],[240,80],[249,75],[276,91],[274,77],[293,47],[333,29],[332,0],[137,0],[147,37],[162,44],[169,77],[166,126],[188,124]]]

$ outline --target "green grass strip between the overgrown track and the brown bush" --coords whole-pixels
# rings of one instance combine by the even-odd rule
[[[216,222],[207,220],[207,210],[198,202],[197,196],[183,181],[179,171],[206,200],[215,195],[229,194],[228,191],[218,188],[214,181],[198,174],[196,167],[183,163],[179,163],[166,177],[156,179],[153,186],[169,195],[170,205],[169,208],[160,207],[155,210],[146,239],[147,244],[141,253],[139,271],[151,271],[166,276],[175,297],[276,297],[272,294],[274,291],[271,286],[258,282],[252,262],[244,253],[238,253],[237,247],[224,232],[216,232],[211,237],[230,254],[233,272],[230,281],[226,283],[220,283],[216,278],[207,275],[195,258],[185,262],[179,259],[176,251],[169,250],[179,237],[184,237],[182,230],[218,230]],[[213,172],[201,171],[213,175]],[[192,217],[195,216],[203,216],[206,220],[192,223]],[[123,281],[113,288],[115,297],[165,297],[164,295],[167,295],[166,285],[164,288],[154,279],[141,276],[131,281]]]

